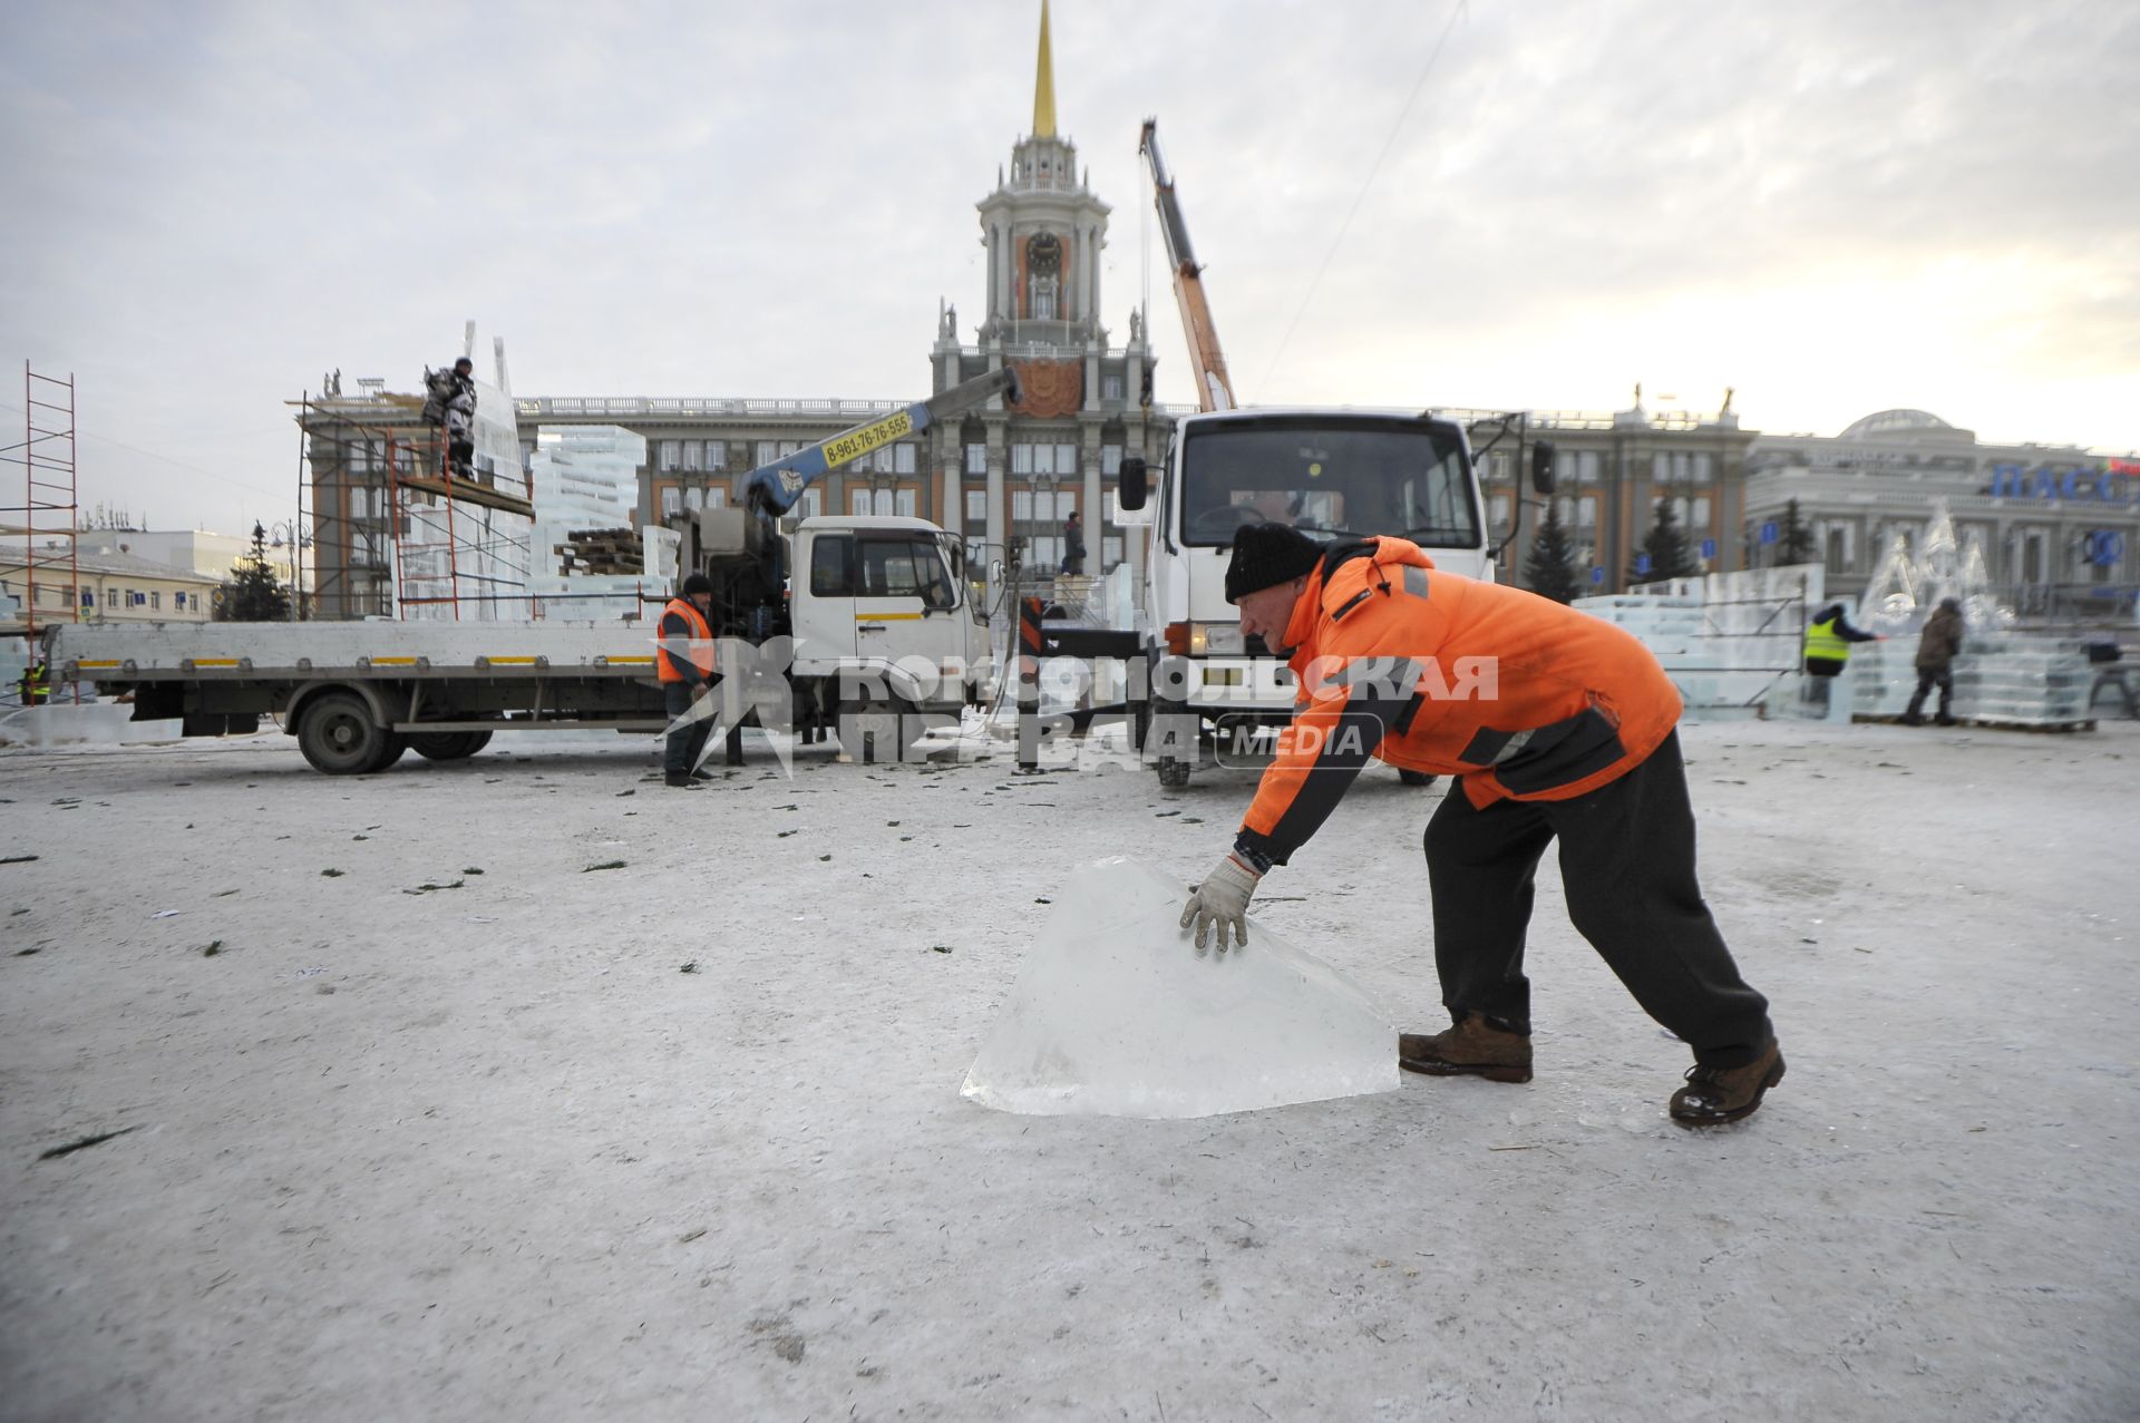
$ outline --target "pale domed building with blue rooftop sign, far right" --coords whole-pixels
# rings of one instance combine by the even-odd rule
[[[1926,411],[1879,411],[1834,437],[1761,434],[1746,466],[1740,541],[1774,561],[1787,507],[1828,565],[1828,588],[1862,593],[1896,533],[1917,552],[1935,501],[1984,552],[1999,599],[2027,616],[2119,616],[2140,582],[2140,458],[2072,445],[1982,445]]]

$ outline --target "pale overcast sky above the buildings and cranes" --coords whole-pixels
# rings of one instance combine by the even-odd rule
[[[293,514],[285,400],[415,389],[471,317],[522,396],[918,400],[937,302],[984,306],[1038,21],[9,0],[0,443],[24,357],[75,372],[86,505],[238,533]],[[1759,430],[2140,449],[2131,0],[1059,0],[1053,45],[1162,400],[1147,116],[1248,402],[1729,385]]]

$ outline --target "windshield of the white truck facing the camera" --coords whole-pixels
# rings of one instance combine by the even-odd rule
[[[1423,419],[1318,417],[1190,430],[1181,539],[1233,544],[1241,524],[1335,539],[1393,533],[1421,548],[1479,548],[1459,437]]]

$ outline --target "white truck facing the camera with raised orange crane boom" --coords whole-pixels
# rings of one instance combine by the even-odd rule
[[[1241,636],[1226,601],[1226,563],[1243,524],[1282,522],[1323,539],[1400,535],[1436,567],[1494,578],[1470,426],[1436,411],[1241,409],[1220,351],[1203,267],[1190,246],[1175,180],[1160,156],[1158,120],[1138,152],[1151,175],[1166,263],[1194,366],[1198,413],[1183,415],[1153,469],[1124,456],[1117,522],[1143,531],[1143,584],[1134,631],[1038,625],[1036,657],[1121,657],[1126,713],[1141,760],[1179,790],[1207,751],[1252,758],[1293,717],[1293,672],[1258,638]],[[1492,417],[1492,443],[1522,439],[1522,417]],[[1522,458],[1522,456],[1519,456]],[[1552,445],[1532,443],[1532,488],[1552,490]],[[1132,533],[1132,537],[1136,537]],[[1038,736],[1021,738],[1034,760]],[[1404,772],[1427,783],[1423,772]]]

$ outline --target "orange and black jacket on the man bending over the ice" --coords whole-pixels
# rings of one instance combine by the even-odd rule
[[[1235,841],[1256,869],[1308,843],[1370,755],[1462,777],[1479,809],[1566,800],[1639,766],[1680,719],[1678,689],[1631,633],[1442,573],[1406,539],[1333,546],[1284,644],[1299,708]]]

